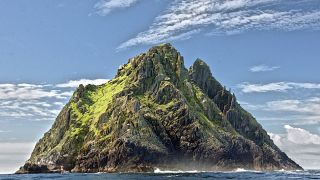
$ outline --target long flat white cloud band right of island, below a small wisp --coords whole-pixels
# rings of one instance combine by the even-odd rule
[[[320,89],[317,83],[275,82],[268,84],[251,84],[244,82],[238,87],[244,93],[286,92],[290,89]]]

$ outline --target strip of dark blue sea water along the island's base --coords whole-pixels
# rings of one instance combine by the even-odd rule
[[[1,180],[14,179],[320,179],[319,170],[279,171],[279,172],[157,172],[157,173],[101,173],[101,174],[35,174],[35,175],[0,175]]]

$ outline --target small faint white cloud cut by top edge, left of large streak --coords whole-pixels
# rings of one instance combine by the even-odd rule
[[[138,1],[139,0],[101,0],[95,5],[95,8],[98,9],[99,14],[106,15],[112,11],[130,7]]]

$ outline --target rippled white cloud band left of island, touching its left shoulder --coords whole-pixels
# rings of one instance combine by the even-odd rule
[[[53,120],[80,84],[100,85],[107,79],[80,79],[55,85],[0,84],[0,118]]]

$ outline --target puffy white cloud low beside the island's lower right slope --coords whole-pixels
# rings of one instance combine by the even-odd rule
[[[306,169],[320,166],[320,136],[301,128],[285,125],[285,134],[269,133],[274,143]]]

